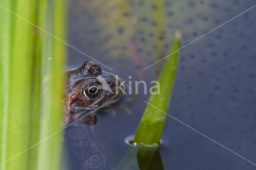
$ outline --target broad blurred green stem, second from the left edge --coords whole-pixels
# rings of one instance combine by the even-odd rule
[[[11,1],[10,3],[12,3]],[[13,12],[34,22],[35,1],[16,0],[11,4]],[[26,9],[26,10],[24,10]],[[1,9],[5,10],[5,9]],[[8,12],[8,11],[6,11]],[[30,101],[32,89],[32,60],[34,51],[34,26],[16,16],[10,17],[12,29],[10,34],[10,56],[8,89],[8,119],[6,140],[6,159],[16,156],[30,147]],[[1,47],[2,48],[2,47]],[[8,56],[4,56],[8,57]],[[5,82],[6,80],[4,80]],[[38,113],[35,113],[38,114]],[[28,155],[24,152],[22,156],[6,162],[6,170],[25,170],[28,168]]]

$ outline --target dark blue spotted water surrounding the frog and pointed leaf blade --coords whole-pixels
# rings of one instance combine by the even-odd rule
[[[256,5],[255,0],[168,0],[162,11],[152,0],[72,0],[69,44],[95,58],[102,70],[123,80],[156,80],[173,33],[182,27],[183,46]],[[181,51],[168,114],[256,164],[256,8]],[[162,29],[161,23],[164,23]],[[69,65],[92,60],[69,48]],[[164,51],[159,55],[158,51]],[[136,132],[149,95],[116,116],[99,116],[98,148],[118,164]],[[156,106],[157,107],[157,106]],[[131,112],[132,114],[128,114]],[[168,117],[160,154],[165,170],[256,170],[256,166]]]

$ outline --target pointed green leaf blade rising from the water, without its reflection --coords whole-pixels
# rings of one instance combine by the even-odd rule
[[[181,29],[178,28],[174,34],[174,43],[170,56],[160,73],[158,82],[160,83],[160,94],[150,96],[148,105],[142,116],[140,125],[136,132],[133,144],[158,145],[164,130],[166,114],[172,96],[176,70],[179,61],[179,49],[181,47]],[[155,108],[155,107],[157,108]],[[162,111],[161,111],[162,110]]]

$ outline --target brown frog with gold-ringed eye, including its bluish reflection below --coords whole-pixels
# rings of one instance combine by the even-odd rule
[[[65,116],[65,144],[72,170],[114,170],[114,166],[98,150],[93,135],[95,117],[92,112],[119,101],[124,94],[116,89],[120,81],[102,72],[100,65],[87,61],[67,73]],[[124,86],[123,86],[124,88]]]

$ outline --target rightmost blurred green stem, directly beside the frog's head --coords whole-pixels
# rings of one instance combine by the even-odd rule
[[[48,32],[61,40],[66,40],[66,1],[55,0],[47,4],[46,25]],[[42,6],[45,7],[45,4]],[[41,18],[44,21],[44,18]],[[64,91],[64,75],[62,73],[65,64],[66,45],[49,34],[42,32],[43,41],[46,43],[42,47],[43,67],[43,91],[42,115],[40,126],[40,140],[47,138],[60,130],[62,120],[62,94]],[[49,124],[51,126],[49,126]],[[38,170],[59,169],[61,156],[61,137],[59,132],[48,138],[39,145]],[[49,156],[50,155],[50,156]],[[54,158],[54,159],[52,159]]]

